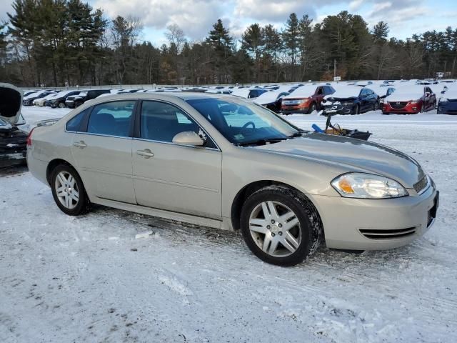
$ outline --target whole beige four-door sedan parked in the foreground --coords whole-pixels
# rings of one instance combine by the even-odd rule
[[[101,204],[241,229],[263,261],[291,266],[324,242],[389,249],[421,237],[438,192],[417,161],[380,144],[298,129],[221,94],[89,101],[29,136],[31,173],[66,214]]]

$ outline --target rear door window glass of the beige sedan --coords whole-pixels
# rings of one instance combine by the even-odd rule
[[[112,101],[94,106],[87,132],[109,136],[128,137],[131,126],[134,100]]]

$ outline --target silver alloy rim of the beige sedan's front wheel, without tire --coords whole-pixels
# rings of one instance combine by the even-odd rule
[[[266,254],[286,257],[301,244],[298,217],[280,202],[261,202],[251,212],[249,231],[253,241]]]

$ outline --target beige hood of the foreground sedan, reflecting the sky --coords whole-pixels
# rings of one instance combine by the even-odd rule
[[[331,162],[341,165],[346,171],[383,175],[401,182],[406,188],[413,188],[424,175],[418,162],[401,151],[330,134],[309,133],[275,144],[255,146],[254,149]]]

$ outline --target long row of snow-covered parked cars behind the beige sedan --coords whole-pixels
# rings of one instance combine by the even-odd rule
[[[24,106],[68,107],[74,109],[101,96],[124,93],[205,92],[250,99],[281,114],[360,114],[381,109],[383,114],[416,114],[439,107],[439,113],[452,107],[443,93],[455,80],[339,81],[306,84],[268,84],[256,86],[163,86],[154,89],[39,90],[24,93]],[[448,93],[450,94],[450,93]],[[442,99],[442,100],[440,100]],[[448,104],[445,104],[446,100]]]

